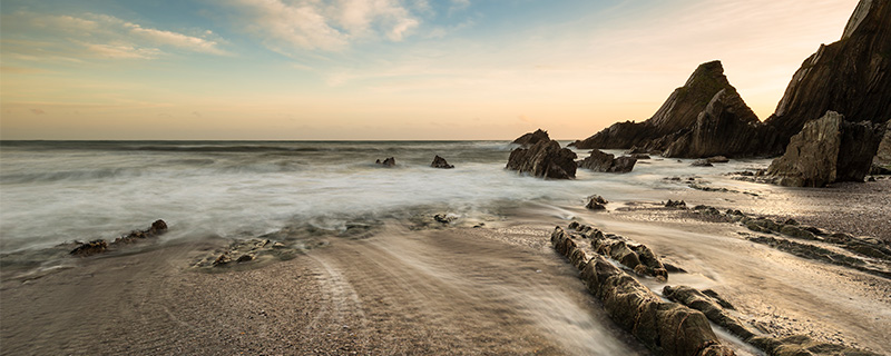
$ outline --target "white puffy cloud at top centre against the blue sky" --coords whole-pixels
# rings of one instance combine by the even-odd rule
[[[396,0],[232,0],[245,28],[275,51],[292,55],[301,50],[340,51],[361,41],[402,41],[421,20]],[[415,1],[418,11],[429,10]]]

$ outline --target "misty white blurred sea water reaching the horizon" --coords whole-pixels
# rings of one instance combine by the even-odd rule
[[[614,201],[658,200],[660,189],[678,187],[664,178],[703,172],[691,160],[654,157],[630,174],[579,169],[575,180],[545,180],[505,169],[516,147],[508,141],[2,141],[0,250],[114,239],[155,219],[167,221],[165,238],[175,239],[252,237],[294,225],[339,230],[351,221],[421,211],[473,219],[530,202],[559,214],[595,194]],[[431,168],[437,155],[456,168]],[[395,158],[395,167],[374,164],[388,157]],[[734,160],[708,174],[765,164]]]

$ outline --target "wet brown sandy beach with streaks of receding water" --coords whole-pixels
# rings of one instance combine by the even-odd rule
[[[658,194],[888,238],[882,202],[888,195],[881,192],[891,191],[891,181],[835,190],[748,189],[760,195]],[[4,355],[648,354],[606,317],[577,271],[550,248],[554,226],[576,219],[649,245],[689,271],[673,274],[668,285],[713,288],[772,335],[806,334],[891,354],[884,343],[891,333],[888,279],[750,243],[738,225],[635,208],[655,202],[614,201],[607,212],[580,206],[520,209],[483,228],[411,230],[391,224],[368,239],[334,238],[291,260],[218,273],[190,266],[226,244],[221,239],[72,258],[71,268],[40,278],[2,280],[0,349]],[[621,207],[629,209],[616,209]],[[654,290],[664,286],[645,283]]]

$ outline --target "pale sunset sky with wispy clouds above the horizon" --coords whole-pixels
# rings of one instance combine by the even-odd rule
[[[0,139],[582,139],[722,60],[763,120],[856,0],[1,0]]]

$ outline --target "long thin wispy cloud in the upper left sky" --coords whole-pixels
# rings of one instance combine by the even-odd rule
[[[4,52],[19,59],[39,53],[41,58],[153,59],[166,49],[227,55],[213,32],[185,34],[144,27],[97,13],[81,16],[19,11],[3,14],[2,31],[31,40],[3,39]],[[7,36],[9,37],[9,36]],[[39,40],[32,40],[32,39]],[[48,56],[50,55],[50,56]]]

